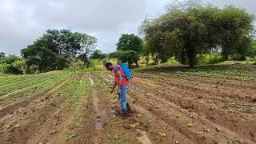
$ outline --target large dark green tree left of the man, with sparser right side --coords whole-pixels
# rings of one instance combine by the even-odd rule
[[[21,50],[28,67],[36,67],[40,72],[62,70],[80,54],[83,62],[88,61],[97,39],[70,30],[46,30],[41,38]]]

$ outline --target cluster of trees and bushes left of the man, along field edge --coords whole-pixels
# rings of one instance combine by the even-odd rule
[[[46,30],[41,38],[21,50],[22,57],[0,53],[0,73],[35,74],[63,70],[76,63],[88,66],[90,59],[105,58],[95,50],[97,38],[70,30]],[[80,61],[80,62],[79,62]]]

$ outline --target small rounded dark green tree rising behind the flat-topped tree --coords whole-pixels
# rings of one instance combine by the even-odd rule
[[[142,53],[142,38],[135,34],[122,34],[116,45],[118,51],[134,50],[138,54]]]

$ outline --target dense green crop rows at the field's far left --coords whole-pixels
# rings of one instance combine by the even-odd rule
[[[52,90],[69,77],[70,73],[63,74],[62,71],[54,71],[46,74],[6,76],[1,81],[0,94],[11,94],[10,97],[2,100],[0,105],[6,106],[15,102],[23,102],[28,98],[46,94],[47,91]]]

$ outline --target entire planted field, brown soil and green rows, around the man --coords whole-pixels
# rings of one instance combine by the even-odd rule
[[[0,77],[0,143],[256,143],[255,71],[134,70],[125,120],[109,72]]]

